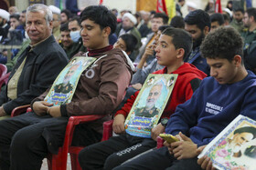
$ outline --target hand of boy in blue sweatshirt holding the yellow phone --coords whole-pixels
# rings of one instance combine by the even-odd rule
[[[179,133],[179,136],[183,141],[178,141],[171,144],[171,147],[174,148],[172,152],[176,159],[181,160],[197,156],[197,145],[181,132]]]

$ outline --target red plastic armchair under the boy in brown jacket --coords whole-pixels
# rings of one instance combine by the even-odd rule
[[[20,115],[26,111],[31,111],[29,105],[16,107],[11,116]],[[64,144],[59,147],[58,155],[48,154],[48,170],[66,170],[68,153],[71,159],[72,170],[81,170],[78,155],[80,150],[85,146],[72,146],[72,137],[76,125],[80,125],[86,122],[91,122],[102,118],[104,115],[80,115],[70,116],[69,123],[66,127],[66,134]],[[112,120],[103,123],[103,135],[101,141],[108,140],[112,136]]]

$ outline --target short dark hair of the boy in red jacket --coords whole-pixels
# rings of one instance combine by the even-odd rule
[[[187,31],[179,28],[166,28],[162,35],[168,35],[172,37],[172,43],[175,45],[176,49],[183,48],[185,53],[183,58],[191,52],[192,49],[192,37]]]

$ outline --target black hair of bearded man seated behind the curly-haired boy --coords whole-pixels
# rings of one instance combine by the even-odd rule
[[[195,11],[191,11],[184,18],[184,21],[187,25],[197,25],[197,27],[203,31],[206,26],[208,26],[210,30],[210,18],[207,12],[197,9]]]

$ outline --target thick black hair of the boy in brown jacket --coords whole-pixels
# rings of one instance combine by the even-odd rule
[[[116,29],[116,17],[108,8],[103,5],[91,5],[86,7],[80,14],[80,22],[90,19],[95,24],[100,25],[101,30],[107,26],[111,28],[111,34]]]

